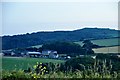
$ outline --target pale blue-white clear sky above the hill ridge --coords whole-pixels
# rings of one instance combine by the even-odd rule
[[[58,1],[2,1],[2,35],[85,27],[118,29],[118,0]]]

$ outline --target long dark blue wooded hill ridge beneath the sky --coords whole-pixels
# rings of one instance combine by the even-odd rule
[[[120,31],[108,28],[83,28],[74,31],[36,32],[2,36],[2,49],[23,48],[53,41],[80,41],[120,37]]]

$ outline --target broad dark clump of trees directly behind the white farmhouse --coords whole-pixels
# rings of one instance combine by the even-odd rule
[[[57,41],[54,43],[43,44],[42,48],[43,50],[56,50],[58,54],[68,54],[71,56],[83,54],[81,46],[73,42]]]

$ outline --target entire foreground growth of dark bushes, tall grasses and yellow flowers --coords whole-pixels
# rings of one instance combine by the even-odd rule
[[[25,80],[33,80],[37,78],[107,78],[119,80],[119,61],[120,58],[106,54],[99,54],[96,59],[88,56],[76,57],[57,64],[53,62],[41,63],[41,61],[38,61],[34,62],[34,65],[31,67],[27,66],[27,69],[19,68],[18,70],[14,69],[11,71],[3,69],[2,79],[16,80],[24,78]]]

